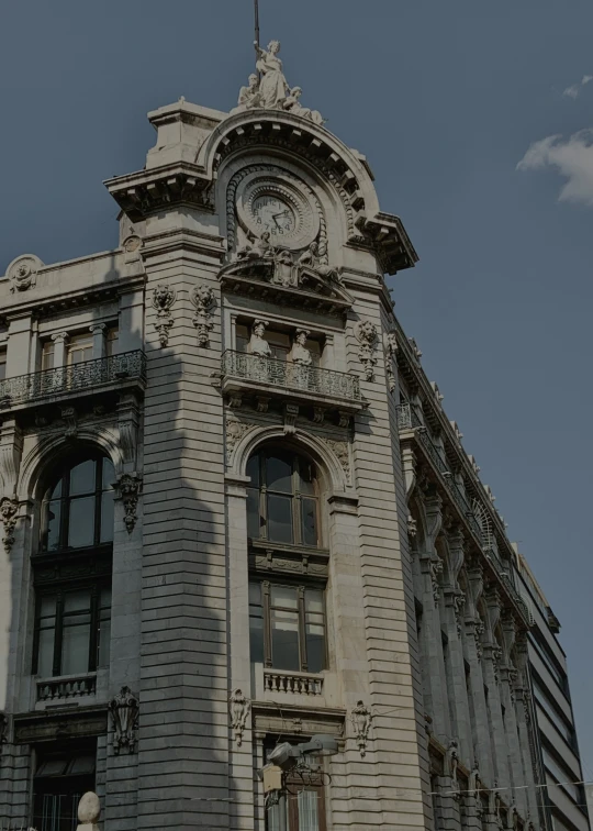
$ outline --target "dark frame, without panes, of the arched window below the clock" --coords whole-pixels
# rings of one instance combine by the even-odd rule
[[[287,461],[287,457],[290,458],[291,463],[291,491],[290,494],[288,491],[281,491],[279,489],[270,488],[267,484],[267,463],[270,458],[280,458],[282,461]],[[256,451],[256,453],[251,454],[249,457],[249,461],[247,463],[247,466],[249,466],[249,463],[251,459],[257,458],[258,459],[258,476],[259,476],[259,483],[257,486],[254,486],[251,483],[247,485],[247,495],[249,496],[249,491],[251,494],[256,495],[256,500],[259,506],[259,517],[258,517],[258,528],[259,528],[259,536],[258,538],[250,538],[253,540],[261,540],[269,543],[273,543],[275,545],[300,545],[307,549],[320,549],[322,547],[322,522],[321,522],[321,488],[320,488],[320,478],[317,475],[317,467],[316,465],[307,459],[305,456],[302,456],[299,453],[293,453],[289,448],[284,448],[281,446],[271,446],[271,447],[264,447],[260,451]],[[302,483],[302,476],[301,476],[301,464],[305,463],[307,465],[312,466],[314,477],[312,479],[313,481],[313,494],[306,494],[303,489],[301,489],[301,483]],[[272,497],[290,497],[290,509],[291,509],[291,530],[292,530],[292,539],[290,541],[286,540],[273,540],[269,536],[269,525],[270,525],[270,519],[269,519],[269,510],[268,510],[268,496],[271,495]],[[303,503],[304,500],[311,500],[315,505],[315,536],[316,542],[315,544],[310,544],[303,541],[304,538],[304,513],[303,513]],[[247,511],[249,511],[249,505],[247,503]],[[249,525],[249,523],[248,523]]]

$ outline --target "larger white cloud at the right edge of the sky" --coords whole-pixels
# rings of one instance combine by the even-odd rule
[[[568,181],[559,201],[582,202],[593,207],[593,129],[580,130],[570,138],[549,135],[532,144],[517,170],[555,167]]]

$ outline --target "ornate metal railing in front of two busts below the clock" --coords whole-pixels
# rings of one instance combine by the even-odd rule
[[[227,350],[222,356],[222,374],[224,377],[259,381],[302,392],[316,392],[348,401],[362,400],[360,383],[356,375],[292,364],[246,352]]]

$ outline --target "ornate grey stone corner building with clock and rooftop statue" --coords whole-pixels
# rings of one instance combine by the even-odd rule
[[[0,817],[545,829],[514,552],[385,287],[416,253],[277,53],[149,114],[113,251],[0,281]]]

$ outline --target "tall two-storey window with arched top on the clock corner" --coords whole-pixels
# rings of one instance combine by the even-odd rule
[[[247,464],[250,658],[268,669],[326,667],[325,587],[329,553],[320,547],[320,484],[313,462],[270,445]]]

